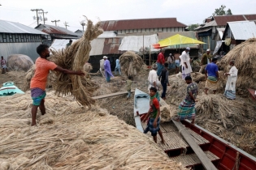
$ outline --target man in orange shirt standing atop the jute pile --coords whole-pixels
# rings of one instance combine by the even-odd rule
[[[37,47],[37,53],[40,57],[37,58],[35,65],[36,71],[30,82],[31,97],[33,99],[33,107],[31,109],[32,113],[32,123],[31,125],[37,125],[37,108],[41,110],[41,114],[46,113],[45,108],[45,97],[46,97],[46,83],[47,76],[50,70],[60,71],[63,74],[76,74],[76,75],[85,75],[82,70],[72,71],[63,69],[60,66],[57,66],[54,62],[47,60],[47,57],[50,57],[50,51],[48,45],[39,45]]]

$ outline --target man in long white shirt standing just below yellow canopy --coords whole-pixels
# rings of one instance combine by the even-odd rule
[[[181,53],[181,56],[180,56],[182,79],[185,79],[185,77],[190,76],[190,73],[192,72],[192,68],[190,66],[189,51],[190,51],[190,48],[187,47],[184,50],[184,52]]]

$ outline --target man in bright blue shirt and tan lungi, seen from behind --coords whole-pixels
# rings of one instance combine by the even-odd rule
[[[216,65],[217,58],[213,58],[212,62],[210,64],[207,64],[206,66],[206,86],[205,86],[205,93],[208,95],[207,91],[210,89],[216,93],[217,87],[218,87],[218,79],[219,79],[219,69]]]

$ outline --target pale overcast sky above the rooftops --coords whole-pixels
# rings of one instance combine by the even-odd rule
[[[93,22],[115,19],[148,19],[175,17],[180,23],[202,23],[203,19],[214,13],[215,8],[225,5],[233,15],[256,14],[255,0],[0,0],[0,19],[19,22],[35,28],[35,11],[48,11],[48,21],[60,20],[58,26],[64,27],[66,21],[76,31],[82,29],[80,21],[86,15]],[[40,23],[43,23],[40,21]]]

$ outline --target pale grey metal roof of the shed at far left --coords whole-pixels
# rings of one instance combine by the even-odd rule
[[[30,28],[24,24],[14,23],[14,22],[5,21],[5,20],[0,20],[0,32],[48,35],[45,32],[41,32],[41,31],[38,31],[37,29]]]

